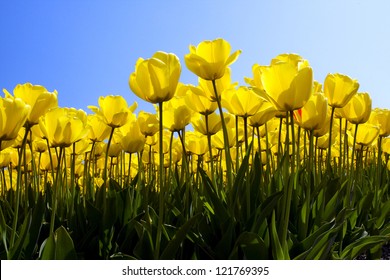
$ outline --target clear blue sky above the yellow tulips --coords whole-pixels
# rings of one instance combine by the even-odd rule
[[[323,82],[347,74],[373,107],[390,109],[390,1],[18,1],[0,2],[0,88],[31,82],[57,89],[60,106],[87,109],[129,89],[138,57],[162,50],[182,63],[181,82],[197,83],[184,63],[190,44],[222,37],[242,54],[232,65],[244,85],[254,63],[298,53]]]

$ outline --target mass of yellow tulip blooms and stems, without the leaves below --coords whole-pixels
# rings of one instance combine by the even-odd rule
[[[373,187],[381,185],[390,169],[390,110],[372,109],[370,95],[358,92],[359,83],[346,75],[329,74],[323,85],[314,81],[309,62],[297,54],[253,65],[247,86],[238,86],[231,81],[229,66],[240,53],[232,53],[223,39],[190,46],[184,61],[199,77],[198,85],[179,82],[181,64],[174,54],[140,58],[129,86],[136,96],[155,104],[156,113],[136,114],[137,103],[129,106],[119,95],[100,97],[99,106],[89,106],[93,114],[87,114],[58,107],[57,92],[40,85],[20,84],[12,94],[4,89],[0,194],[4,199],[10,190],[15,194],[8,247],[18,237],[19,208],[27,211],[38,200],[29,199],[29,190],[45,193],[50,186],[53,235],[56,219],[74,214],[77,195],[85,205],[99,189],[106,197],[109,183],[115,181],[122,189],[147,186],[158,195],[153,244],[158,258],[173,180],[202,188],[204,171],[223,200],[220,191],[233,189],[236,180],[249,177],[250,167],[256,166],[262,182],[258,188],[265,196],[283,192],[278,235],[286,257],[297,187],[288,183],[291,174],[304,170],[312,174],[309,183],[316,185],[331,173],[347,181],[346,197],[353,197],[362,170],[375,165]],[[256,160],[260,164],[255,165]],[[244,177],[240,169],[245,169]],[[279,175],[285,183],[269,187]],[[310,201],[310,188],[301,195]],[[249,188],[245,196],[250,204]],[[378,194],[374,204],[380,200]],[[109,211],[106,203],[103,199],[103,212]],[[352,207],[353,199],[346,204]],[[253,206],[244,209],[249,217]],[[147,207],[144,211],[149,215]],[[309,231],[305,217],[302,236]]]

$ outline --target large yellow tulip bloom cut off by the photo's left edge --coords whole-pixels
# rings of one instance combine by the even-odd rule
[[[18,136],[30,111],[30,105],[20,98],[0,97],[0,143]]]

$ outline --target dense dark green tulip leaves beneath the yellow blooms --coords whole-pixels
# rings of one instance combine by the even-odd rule
[[[213,181],[201,162],[194,173],[172,169],[162,214],[156,210],[158,180],[146,181],[139,173],[126,184],[110,179],[107,187],[92,186],[94,191],[88,195],[76,186],[73,198],[59,201],[55,230],[50,233],[53,186],[48,183],[43,193],[28,188],[24,196],[28,203],[19,205],[12,246],[15,193],[8,190],[0,199],[0,257],[302,260],[355,259],[363,253],[380,257],[381,247],[390,241],[386,180],[377,187],[380,195],[375,195],[370,177],[375,171],[367,170],[367,176],[359,175],[353,185],[349,203],[345,196],[350,178],[329,170],[314,174],[302,166],[289,173],[287,163],[271,173],[265,170],[270,165],[262,165],[251,148],[231,186],[218,172]],[[281,160],[286,162],[285,157]],[[156,256],[160,215],[163,223]]]

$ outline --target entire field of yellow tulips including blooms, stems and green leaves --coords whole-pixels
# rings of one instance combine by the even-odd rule
[[[0,259],[380,259],[390,110],[298,54],[239,85],[240,53],[215,39],[139,58],[128,94],[88,114],[41,85],[3,89]]]

